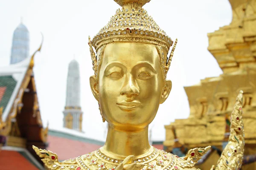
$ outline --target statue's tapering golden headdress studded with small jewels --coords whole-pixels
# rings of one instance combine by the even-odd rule
[[[142,8],[150,0],[115,0],[122,9],[118,9],[108,24],[93,37],[90,42],[98,51],[102,45],[111,42],[143,42],[160,45],[167,51],[172,39],[155,23],[147,11]]]

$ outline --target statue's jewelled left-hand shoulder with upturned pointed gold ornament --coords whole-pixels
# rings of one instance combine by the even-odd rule
[[[41,161],[44,162],[49,170],[93,170],[91,169],[91,165],[97,164],[96,159],[94,159],[94,152],[60,162],[56,153],[52,153],[49,150],[42,150],[35,146],[33,146],[33,149],[42,158]]]

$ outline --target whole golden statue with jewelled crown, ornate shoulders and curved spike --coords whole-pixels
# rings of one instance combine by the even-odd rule
[[[166,74],[177,40],[173,45],[172,39],[142,8],[150,0],[114,1],[122,9],[116,11],[93,40],[89,37],[88,43],[95,72],[90,77],[90,87],[99,102],[103,122],[108,122],[105,145],[63,162],[59,162],[57,154],[51,151],[33,148],[50,170],[196,170],[194,165],[210,147],[191,149],[180,158],[148,143],[148,125],[172,88]],[[172,45],[171,54],[167,57]],[[241,160],[244,151],[239,110],[241,96],[242,93],[233,113],[239,120],[233,118],[232,121],[237,122],[232,122],[231,127],[235,129],[233,133],[237,133],[233,136],[235,140],[230,138],[229,148],[223,153],[216,170],[232,169],[233,165],[239,168],[241,165],[241,162],[239,165],[234,163]],[[237,123],[240,131],[236,129]],[[238,143],[234,143],[236,140]],[[234,156],[235,152],[239,155]],[[228,163],[223,162],[225,158]]]

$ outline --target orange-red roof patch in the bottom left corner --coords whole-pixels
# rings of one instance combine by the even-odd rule
[[[0,169],[1,170],[38,170],[17,151],[0,151]]]

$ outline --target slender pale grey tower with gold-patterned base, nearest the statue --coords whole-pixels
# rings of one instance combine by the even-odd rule
[[[80,106],[79,63],[73,59],[68,66],[67,96],[64,113],[64,127],[82,130],[83,113]]]

